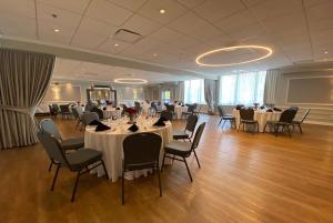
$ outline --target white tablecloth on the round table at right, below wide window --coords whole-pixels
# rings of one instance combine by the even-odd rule
[[[259,131],[263,132],[264,126],[266,124],[268,121],[279,121],[280,116],[281,116],[282,112],[266,112],[264,110],[258,110],[254,111],[254,116],[253,119],[258,121],[259,123]],[[234,109],[233,110],[233,115],[235,118],[235,122],[236,122],[236,129],[239,129],[240,125],[240,110]],[[268,128],[266,131],[270,131],[270,129]]]

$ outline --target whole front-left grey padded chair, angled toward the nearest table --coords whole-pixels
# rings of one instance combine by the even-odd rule
[[[51,185],[51,191],[53,191],[54,189],[60,168],[68,168],[70,171],[77,172],[77,179],[72,192],[71,202],[73,202],[75,199],[79,179],[82,174],[89,173],[92,169],[102,165],[105,172],[105,176],[107,179],[109,179],[101,152],[91,149],[82,149],[75,152],[64,153],[62,145],[54,136],[43,131],[39,131],[37,133],[37,136],[43,145],[44,150],[47,151],[49,158],[57,165],[57,171]]]

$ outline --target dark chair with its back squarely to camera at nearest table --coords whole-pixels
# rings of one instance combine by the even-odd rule
[[[123,141],[123,162],[121,180],[121,202],[124,204],[124,173],[128,171],[152,169],[158,170],[160,196],[162,196],[159,158],[162,138],[155,133],[138,133]]]

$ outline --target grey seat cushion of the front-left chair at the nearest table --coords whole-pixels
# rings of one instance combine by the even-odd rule
[[[65,154],[65,156],[71,169],[79,171],[97,161],[100,161],[102,159],[102,153],[92,149],[82,149],[77,152]]]

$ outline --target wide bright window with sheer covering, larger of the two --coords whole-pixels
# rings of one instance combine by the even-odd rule
[[[265,71],[221,75],[221,104],[263,103]]]

